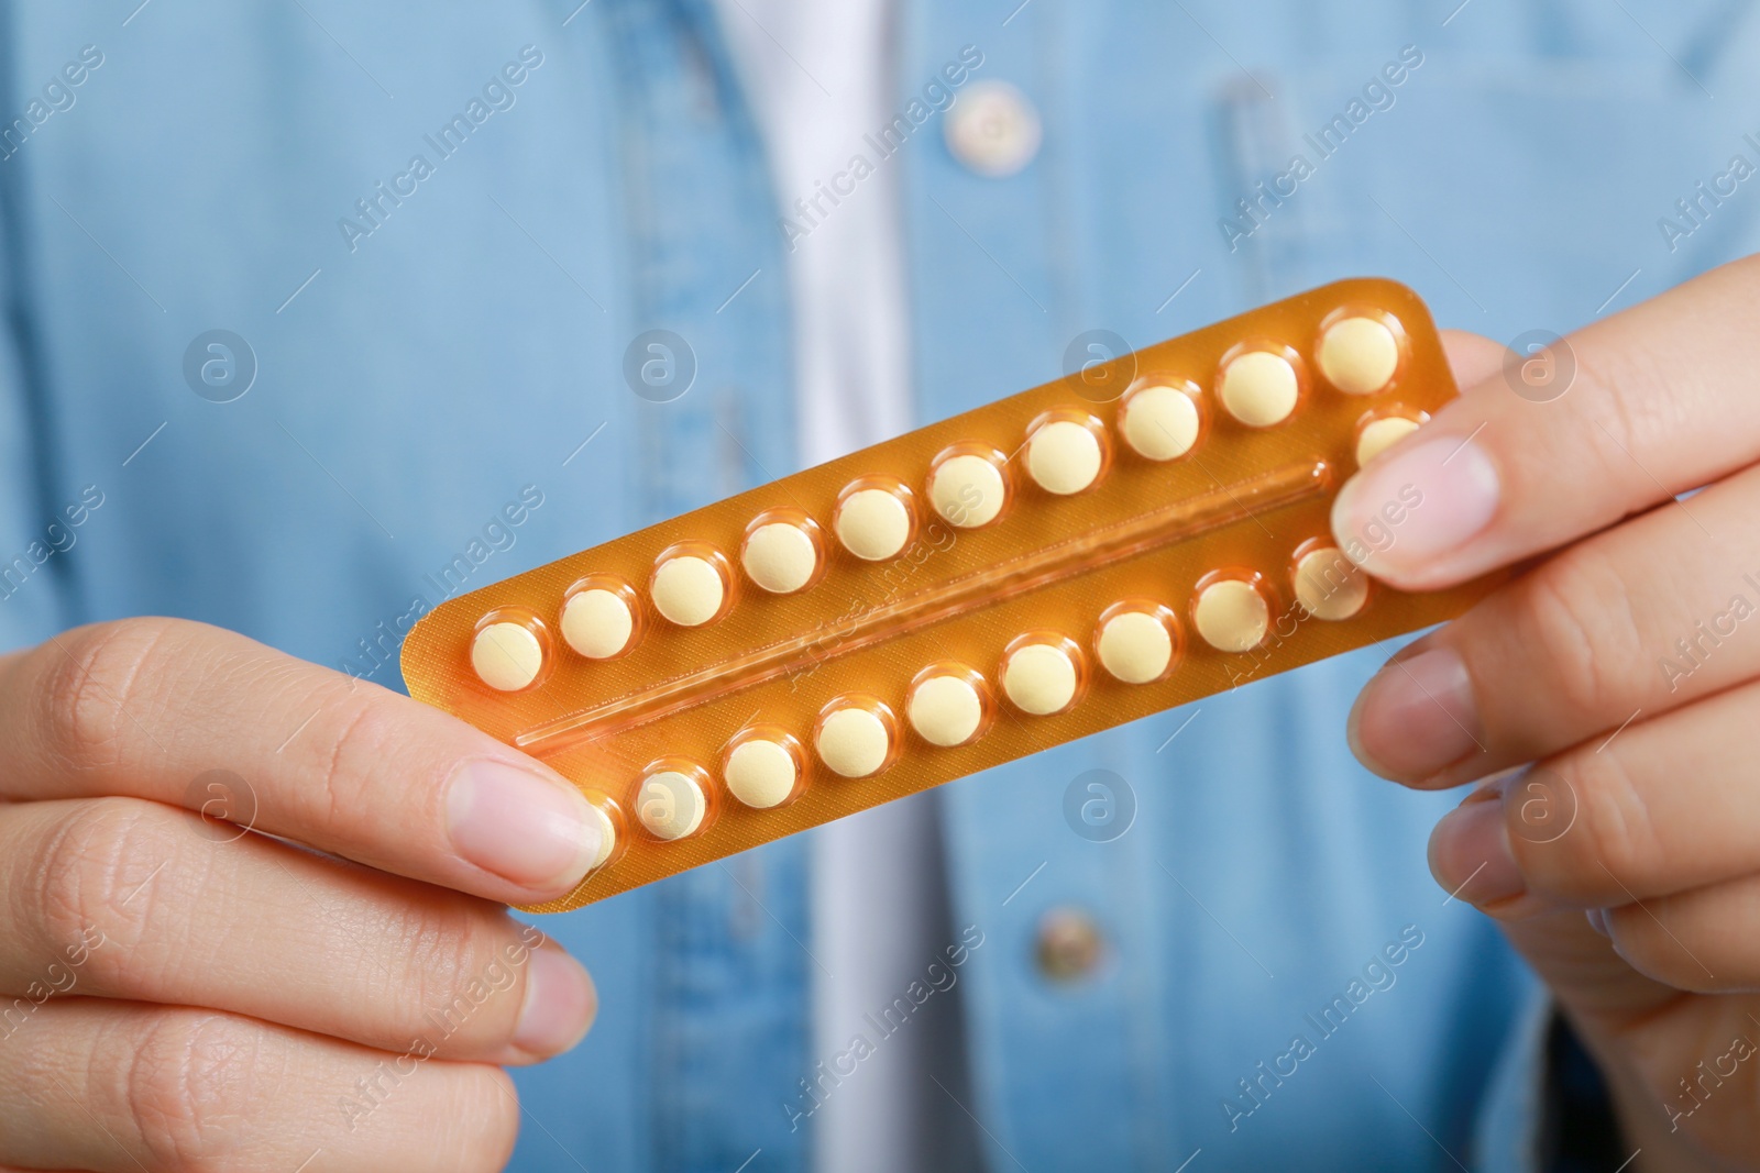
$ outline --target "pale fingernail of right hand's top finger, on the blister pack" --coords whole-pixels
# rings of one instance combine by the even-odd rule
[[[1498,470],[1471,440],[1438,436],[1389,454],[1332,501],[1339,549],[1371,573],[1422,575],[1491,524]]]

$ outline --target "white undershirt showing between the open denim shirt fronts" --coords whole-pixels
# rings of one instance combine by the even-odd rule
[[[836,204],[820,193],[882,127],[889,84],[889,0],[718,0],[764,132],[781,211],[794,222],[799,438],[811,466],[910,429],[912,396],[898,216],[898,160],[882,162]],[[847,186],[847,181],[845,181]],[[817,197],[817,200],[815,200]],[[796,208],[801,199],[806,209]],[[817,204],[817,206],[815,206]],[[935,805],[894,802],[813,832],[813,1053],[827,1067],[850,1039],[876,1041],[864,1015],[899,997],[947,941]],[[829,974],[829,976],[827,976]],[[915,1025],[915,1024],[913,1024]],[[922,1027],[929,1024],[924,1022]],[[917,1168],[933,1122],[924,1029],[880,1041],[813,1113],[813,1168]],[[945,1045],[945,1039],[943,1039]],[[811,1080],[813,1071],[803,1071]]]

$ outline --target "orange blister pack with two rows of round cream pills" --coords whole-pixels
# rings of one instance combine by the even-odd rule
[[[530,911],[579,907],[1459,614],[1496,579],[1329,531],[1454,396],[1424,302],[1339,281],[454,598],[403,677],[604,816]]]

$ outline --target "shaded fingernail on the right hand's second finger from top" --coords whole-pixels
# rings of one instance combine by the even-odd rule
[[[1466,663],[1448,647],[1387,663],[1357,696],[1348,732],[1366,767],[1401,781],[1420,781],[1480,753],[1484,733]]]

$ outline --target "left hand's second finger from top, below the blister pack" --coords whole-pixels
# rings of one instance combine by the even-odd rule
[[[139,798],[0,809],[0,994],[211,1006],[503,1064],[586,1034],[586,971],[500,906],[206,827]]]

